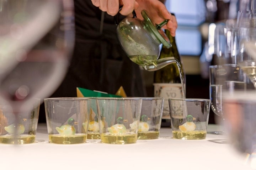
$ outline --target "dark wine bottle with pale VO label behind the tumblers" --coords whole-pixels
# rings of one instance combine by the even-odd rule
[[[162,46],[160,58],[174,57],[176,63],[169,64],[154,72],[154,97],[164,97],[164,109],[161,126],[171,126],[169,109],[169,98],[185,98],[185,72],[182,66],[180,54],[177,49],[175,37],[171,36],[169,30],[165,34],[170,39],[172,46],[167,49]],[[181,70],[181,75],[180,71]]]

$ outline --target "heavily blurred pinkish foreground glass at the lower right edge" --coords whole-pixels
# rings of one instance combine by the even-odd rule
[[[225,127],[231,146],[256,169],[256,91],[235,91],[223,96]]]

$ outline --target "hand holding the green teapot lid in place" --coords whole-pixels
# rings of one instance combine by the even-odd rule
[[[176,17],[171,15],[167,10],[166,6],[159,0],[136,0],[139,7],[135,9],[137,17],[143,19],[141,11],[145,9],[149,15],[152,17],[156,24],[160,24],[165,19],[169,19],[167,24],[162,27],[163,29],[168,29],[172,36],[175,36],[176,29],[178,27]]]

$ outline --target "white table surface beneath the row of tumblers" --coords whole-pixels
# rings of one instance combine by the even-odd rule
[[[221,131],[209,124],[208,132]],[[204,140],[177,140],[171,128],[161,128],[155,140],[137,140],[127,145],[86,143],[60,145],[48,142],[46,124],[38,124],[36,142],[26,145],[0,144],[0,169],[179,169],[246,170],[246,156],[227,144],[228,136],[207,134]]]

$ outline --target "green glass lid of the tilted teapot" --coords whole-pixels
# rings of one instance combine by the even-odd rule
[[[156,28],[157,24],[153,22],[153,20],[150,19],[149,15],[146,13],[146,10],[142,10],[141,12],[142,17],[144,18],[144,21],[146,24],[148,24],[149,28],[153,32],[153,34],[160,40],[160,42],[166,47],[171,47],[171,42],[165,32],[160,28]]]

